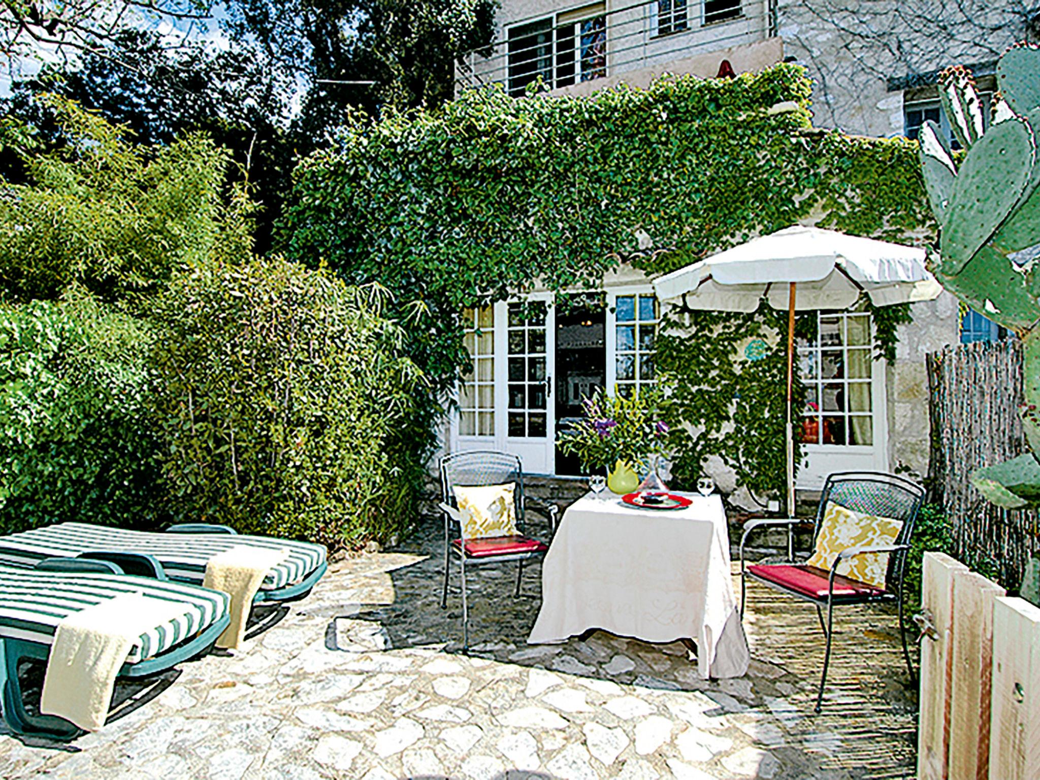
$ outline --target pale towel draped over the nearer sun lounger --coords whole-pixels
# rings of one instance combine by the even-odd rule
[[[58,623],[47,659],[40,711],[97,731],[105,724],[115,677],[146,631],[182,617],[180,601],[123,593]]]

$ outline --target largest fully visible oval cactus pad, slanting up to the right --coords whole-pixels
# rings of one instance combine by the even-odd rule
[[[1030,182],[1033,132],[1015,118],[990,127],[965,156],[942,223],[942,271],[957,274],[993,237]]]

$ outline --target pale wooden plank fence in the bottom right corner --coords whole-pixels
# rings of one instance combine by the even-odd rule
[[[917,780],[1040,780],[1040,608],[925,553]]]

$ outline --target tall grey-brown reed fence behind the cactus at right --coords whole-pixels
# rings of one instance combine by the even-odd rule
[[[957,344],[928,356],[931,391],[930,487],[954,527],[957,556],[1017,588],[1040,547],[1035,511],[984,500],[968,474],[1021,454],[1018,418],[1022,350],[1018,340]]]

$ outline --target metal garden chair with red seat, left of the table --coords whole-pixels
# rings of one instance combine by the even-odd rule
[[[558,509],[530,496],[524,495],[523,466],[520,459],[509,452],[474,450],[457,452],[441,458],[441,504],[444,514],[444,593],[441,608],[447,607],[448,576],[451,556],[459,558],[462,577],[462,627],[463,650],[469,650],[469,607],[466,601],[466,565],[502,564],[517,562],[516,597],[520,596],[520,581],[523,564],[528,558],[544,555],[549,549],[546,544],[524,536],[524,520],[527,510],[537,511],[549,520],[550,536],[556,530]],[[517,536],[488,537],[484,539],[462,539],[462,516],[456,502],[456,487],[483,485],[505,485],[514,483],[516,501]],[[452,528],[454,534],[452,534]]]

